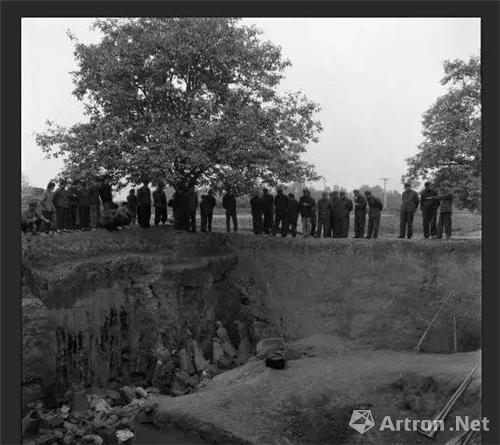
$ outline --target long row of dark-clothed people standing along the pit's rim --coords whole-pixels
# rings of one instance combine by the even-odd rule
[[[44,232],[50,235],[72,230],[121,230],[129,225],[139,224],[147,229],[152,219],[154,224],[168,222],[168,207],[172,207],[176,230],[196,232],[196,215],[199,208],[202,232],[212,231],[212,219],[217,201],[212,190],[198,199],[194,187],[177,189],[167,200],[164,185],[159,183],[154,191],[150,181],[144,180],[140,188],[131,189],[126,201],[120,205],[113,201],[112,187],[108,177],[102,177],[91,184],[73,180],[68,186],[61,180],[58,188],[50,182],[39,202],[29,203],[22,215],[24,232]],[[438,194],[429,182],[419,194],[405,184],[400,210],[399,238],[413,237],[413,217],[419,205],[422,211],[425,238],[451,237],[452,194],[447,191]],[[236,197],[227,190],[222,197],[226,213],[226,230],[238,231]],[[350,228],[350,214],[354,212],[354,238],[373,238],[379,235],[380,217],[383,209],[379,198],[370,191],[353,191],[353,200],[346,192],[323,192],[317,201],[310,190],[304,188],[297,200],[293,193],[285,194],[278,187],[273,196],[266,188],[256,189],[250,199],[253,232],[256,235],[290,234],[297,236],[299,216],[302,236],[323,238],[347,238]],[[439,221],[437,219],[438,208]],[[367,224],[368,217],[368,224]],[[366,230],[365,230],[366,228]]]

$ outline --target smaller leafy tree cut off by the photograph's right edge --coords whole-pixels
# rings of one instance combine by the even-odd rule
[[[424,114],[423,142],[407,159],[409,179],[430,179],[450,188],[457,204],[477,209],[481,204],[481,64],[444,62],[441,81],[448,91]]]

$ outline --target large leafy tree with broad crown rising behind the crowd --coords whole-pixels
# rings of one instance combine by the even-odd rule
[[[88,122],[48,122],[36,136],[66,176],[106,171],[175,187],[248,191],[316,180],[301,158],[321,131],[318,105],[278,93],[290,62],[261,31],[231,18],[98,20],[97,44],[75,39],[74,95]],[[74,37],[72,37],[74,39]]]

